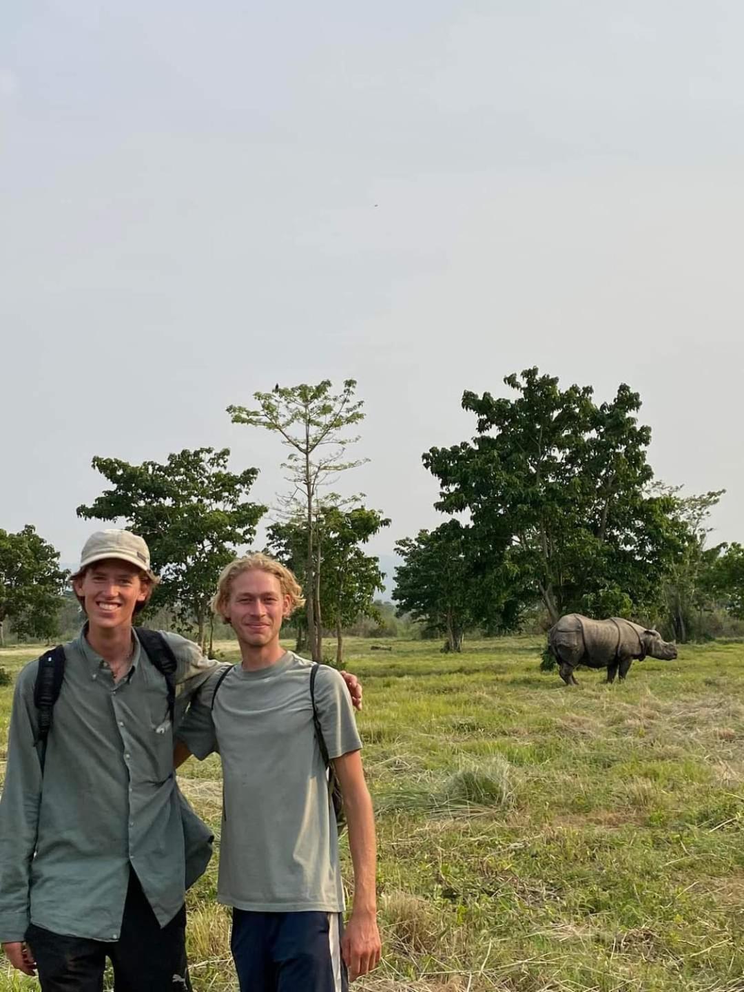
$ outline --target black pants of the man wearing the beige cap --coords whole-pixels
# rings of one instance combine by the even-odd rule
[[[29,927],[42,992],[102,992],[106,958],[115,992],[190,992],[186,969],[186,907],[161,929],[134,872],[129,878],[118,940],[89,940]]]

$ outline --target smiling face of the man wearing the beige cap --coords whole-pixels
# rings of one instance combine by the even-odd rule
[[[136,565],[105,558],[72,580],[91,626],[112,629],[131,624],[139,603],[147,601],[150,583]]]

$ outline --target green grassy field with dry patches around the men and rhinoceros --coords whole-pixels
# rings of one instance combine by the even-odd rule
[[[535,638],[392,647],[346,661],[380,841],[384,962],[360,989],[743,992],[744,646],[574,688]],[[181,781],[218,827],[217,761]],[[212,868],[189,894],[199,992],[236,988],[214,889]],[[0,967],[0,990],[33,987]]]

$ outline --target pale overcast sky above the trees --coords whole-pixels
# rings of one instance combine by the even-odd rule
[[[256,390],[346,377],[343,483],[437,523],[464,389],[640,391],[657,475],[744,540],[744,5],[7,3],[0,527],[74,561],[94,454],[229,446]]]

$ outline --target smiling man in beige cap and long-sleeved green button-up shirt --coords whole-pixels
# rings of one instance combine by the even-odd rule
[[[14,967],[38,972],[43,992],[100,992],[106,957],[117,992],[190,988],[173,730],[216,663],[163,634],[176,662],[169,688],[132,626],[158,581],[142,538],[91,535],[72,576],[87,622],[63,646],[48,738],[38,663],[16,682],[0,799],[0,941]]]

